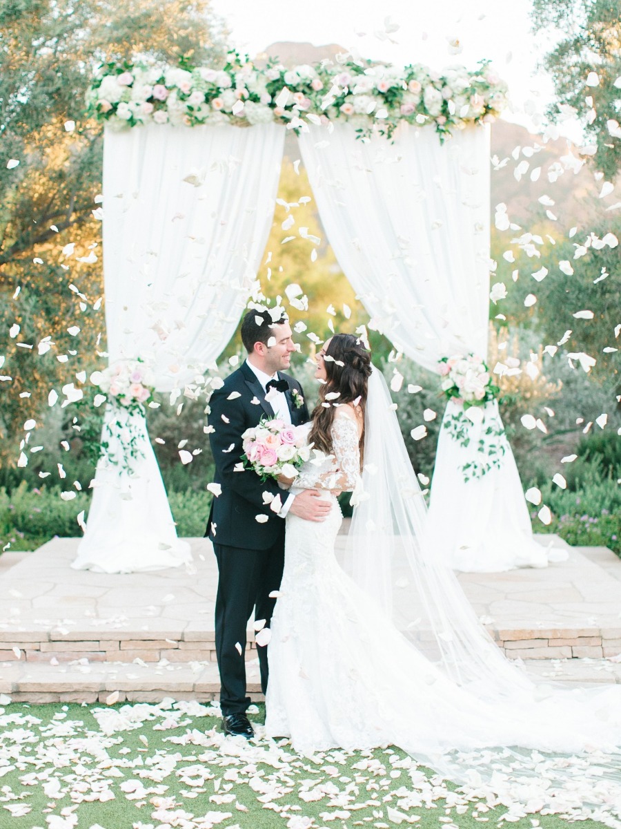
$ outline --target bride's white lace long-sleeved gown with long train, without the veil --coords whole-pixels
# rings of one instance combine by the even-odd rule
[[[354,488],[354,421],[337,414],[332,440],[335,458],[306,463],[298,485]],[[285,569],[268,646],[267,736],[291,738],[301,754],[394,744],[457,782],[488,781],[497,793],[543,797],[552,811],[616,801],[611,813],[621,817],[621,774],[614,770],[621,761],[619,689],[546,695],[513,666],[515,693],[504,700],[458,684],[340,567],[342,514],[330,492],[323,497],[331,503],[325,521],[286,518]],[[606,758],[601,749],[612,754]],[[576,752],[583,754],[568,768]]]

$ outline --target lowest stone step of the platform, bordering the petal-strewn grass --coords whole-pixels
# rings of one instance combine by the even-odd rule
[[[605,659],[535,660],[524,662],[537,682],[567,687],[595,683],[621,684],[621,662]],[[248,694],[262,701],[258,662],[248,662]],[[218,698],[218,666],[211,662],[95,662],[59,665],[12,662],[2,667],[0,705],[7,702],[103,703],[176,700],[208,702]]]

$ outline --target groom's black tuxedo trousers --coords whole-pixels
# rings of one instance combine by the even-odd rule
[[[255,619],[265,619],[269,627],[275,598],[270,593],[280,587],[285,561],[284,521],[278,540],[267,550],[243,550],[214,543],[218,560],[218,594],[215,599],[215,652],[220,671],[220,707],[224,716],[245,712],[246,629],[254,610]],[[241,647],[241,653],[238,647]],[[267,647],[258,646],[261,688],[267,691]]]

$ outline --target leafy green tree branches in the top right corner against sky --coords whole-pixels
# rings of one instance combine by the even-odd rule
[[[573,107],[595,138],[595,167],[613,179],[621,166],[621,14],[619,0],[533,0],[534,32],[551,27],[561,41],[543,65],[550,72],[558,104]],[[549,114],[559,112],[553,105]]]

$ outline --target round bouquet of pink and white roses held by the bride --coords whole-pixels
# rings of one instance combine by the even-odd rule
[[[296,467],[310,458],[304,431],[279,418],[262,417],[258,426],[246,429],[242,439],[246,468],[256,472],[262,481],[281,474],[296,478]]]

